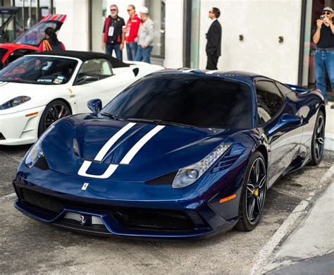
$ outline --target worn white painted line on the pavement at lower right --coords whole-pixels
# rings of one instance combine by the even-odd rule
[[[334,165],[330,166],[330,169],[324,173],[324,175],[320,179],[320,183],[323,183],[327,181],[331,176],[334,174]],[[311,200],[312,197],[309,197],[308,200]],[[260,274],[261,270],[264,269],[266,264],[268,263],[268,259],[273,253],[273,250],[277,247],[277,245],[280,243],[283,238],[287,235],[287,233],[290,233],[291,227],[293,224],[295,224],[295,221],[297,218],[304,212],[306,207],[309,205],[309,202],[307,200],[302,200],[299,202],[297,207],[293,209],[292,213],[285,219],[283,224],[278,228],[275,234],[271,237],[270,240],[268,240],[268,243],[262,247],[262,249],[259,251],[256,262],[253,265],[250,274]]]

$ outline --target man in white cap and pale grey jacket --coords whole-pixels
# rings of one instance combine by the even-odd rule
[[[137,37],[138,46],[135,61],[151,63],[154,23],[151,18],[149,18],[149,9],[147,7],[140,8],[140,18],[142,18],[142,23],[140,24]]]

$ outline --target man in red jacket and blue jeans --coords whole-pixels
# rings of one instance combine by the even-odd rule
[[[137,54],[137,36],[141,21],[136,14],[134,5],[128,6],[128,15],[130,18],[125,27],[126,53],[128,54],[128,60],[135,60]]]

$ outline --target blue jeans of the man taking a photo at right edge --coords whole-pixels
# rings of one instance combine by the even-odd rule
[[[334,49],[332,51],[316,50],[316,87],[321,90],[323,97],[327,100],[325,70],[328,73],[330,86],[334,92]]]

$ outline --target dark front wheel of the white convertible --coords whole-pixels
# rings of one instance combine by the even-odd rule
[[[70,114],[70,108],[62,100],[56,99],[47,104],[39,121],[38,137],[40,137],[40,135],[44,133],[44,130],[47,130],[52,123]]]

